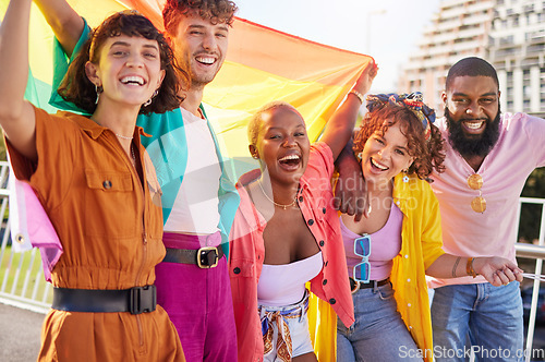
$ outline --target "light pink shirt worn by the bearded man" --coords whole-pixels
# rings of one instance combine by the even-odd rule
[[[436,122],[448,140],[445,119]],[[461,256],[502,256],[516,262],[514,242],[519,197],[529,174],[545,166],[545,120],[525,113],[505,113],[499,138],[475,172],[446,142],[446,170],[433,173],[432,183],[439,200],[443,219],[443,249]],[[482,195],[486,210],[473,212],[471,201],[479,191],[468,185],[468,177],[483,178]],[[431,279],[429,287],[485,282],[484,277]]]

